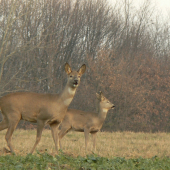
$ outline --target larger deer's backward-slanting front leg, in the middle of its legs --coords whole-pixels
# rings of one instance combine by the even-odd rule
[[[30,154],[32,154],[34,152],[36,146],[40,142],[44,125],[45,125],[45,123],[43,121],[37,121],[37,136],[36,136],[36,141],[35,141],[35,144],[34,144],[32,150],[31,150]]]

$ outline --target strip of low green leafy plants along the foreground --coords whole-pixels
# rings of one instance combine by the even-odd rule
[[[97,155],[86,157],[71,157],[60,153],[51,156],[48,153],[36,153],[35,155],[0,156],[1,170],[51,170],[51,169],[75,169],[75,170],[169,170],[170,158],[159,158],[157,156],[144,159],[125,159],[121,157],[106,158]]]

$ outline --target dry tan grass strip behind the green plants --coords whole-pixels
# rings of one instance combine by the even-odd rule
[[[6,130],[0,132],[0,155],[6,155]],[[35,142],[36,130],[16,130],[12,143],[16,154],[26,155]],[[169,133],[134,133],[134,132],[99,132],[97,135],[96,154],[102,157],[150,158],[170,156]],[[92,141],[89,151],[85,153],[84,134],[70,132],[62,139],[63,152],[73,156],[85,156],[92,153]],[[44,130],[41,141],[36,148],[39,152],[55,151],[50,130]]]

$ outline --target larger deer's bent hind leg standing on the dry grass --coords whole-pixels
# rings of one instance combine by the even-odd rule
[[[19,121],[20,121],[20,119],[18,119],[18,120],[16,119],[15,121],[13,120],[12,122],[9,122],[9,127],[8,127],[7,133],[5,135],[7,145],[10,148],[12,153],[15,153],[15,152],[14,152],[13,146],[11,144],[11,138],[12,138],[12,134],[13,134],[15,128],[17,127],[17,124],[19,123]],[[5,123],[3,123],[1,128],[5,128],[6,126],[7,125]]]

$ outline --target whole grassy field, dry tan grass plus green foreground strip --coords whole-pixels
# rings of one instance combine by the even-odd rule
[[[55,149],[50,130],[43,131],[37,151],[33,155],[28,153],[35,142],[36,130],[14,132],[12,142],[16,155],[11,155],[4,149],[8,148],[4,138],[5,133],[6,130],[0,132],[1,169],[4,164],[6,165],[6,161],[8,164],[10,162],[9,165],[14,165],[14,169],[16,166],[17,169],[77,169],[77,167],[83,167],[82,169],[142,169],[142,167],[170,169],[169,133],[99,132],[96,152],[93,153],[92,141],[90,141],[89,151],[85,153],[83,133],[70,132],[62,139],[63,150],[57,156],[51,155]],[[32,166],[35,167],[30,167],[31,161]],[[22,162],[21,165],[18,164],[20,162]],[[23,168],[25,165],[27,168]],[[6,167],[6,169],[9,168],[13,169]]]

